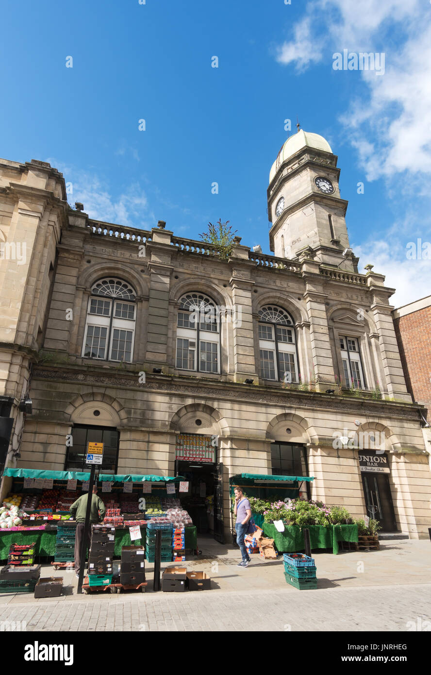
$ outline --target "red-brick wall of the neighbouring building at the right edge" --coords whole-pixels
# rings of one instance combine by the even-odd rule
[[[407,389],[431,423],[431,306],[394,319]]]

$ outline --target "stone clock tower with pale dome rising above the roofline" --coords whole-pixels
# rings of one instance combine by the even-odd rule
[[[283,144],[268,187],[270,250],[277,257],[295,260],[305,253],[320,263],[357,272],[339,175],[337,156],[322,136],[300,130]]]

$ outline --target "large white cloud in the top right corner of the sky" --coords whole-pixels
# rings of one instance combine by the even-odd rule
[[[420,0],[320,0],[308,3],[279,63],[332,68],[333,53],[384,52],[384,75],[352,72],[368,95],[341,116],[368,180],[431,172],[431,4]],[[340,78],[345,74],[339,74]]]

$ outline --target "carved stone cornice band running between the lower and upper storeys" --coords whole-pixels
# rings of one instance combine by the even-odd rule
[[[256,387],[254,385],[240,385],[236,383],[218,383],[215,381],[204,382],[199,379],[193,382],[189,378],[187,381],[179,381],[179,378],[163,377],[153,378],[142,385],[136,383],[136,375],[127,376],[126,373],[83,373],[81,369],[65,367],[43,368],[36,367],[33,372],[33,381],[35,379],[45,379],[59,382],[75,382],[78,384],[96,385],[101,387],[113,387],[119,389],[131,389],[134,391],[142,390],[148,393],[169,394],[170,396],[180,396],[181,398],[203,398],[208,400],[232,400],[235,402],[243,401],[250,404],[272,404],[282,406],[283,408],[301,408],[304,410],[326,410],[328,412],[343,412],[345,414],[370,415],[384,418],[399,417],[420,422],[418,415],[419,408],[416,404],[400,404],[390,401],[370,402],[369,399],[352,398],[346,400],[340,396],[329,396],[319,392],[287,391],[277,389],[270,391],[269,387]]]

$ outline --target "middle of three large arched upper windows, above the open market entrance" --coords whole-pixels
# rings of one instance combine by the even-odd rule
[[[177,316],[178,369],[219,373],[220,315],[202,293],[188,293],[179,301]]]

